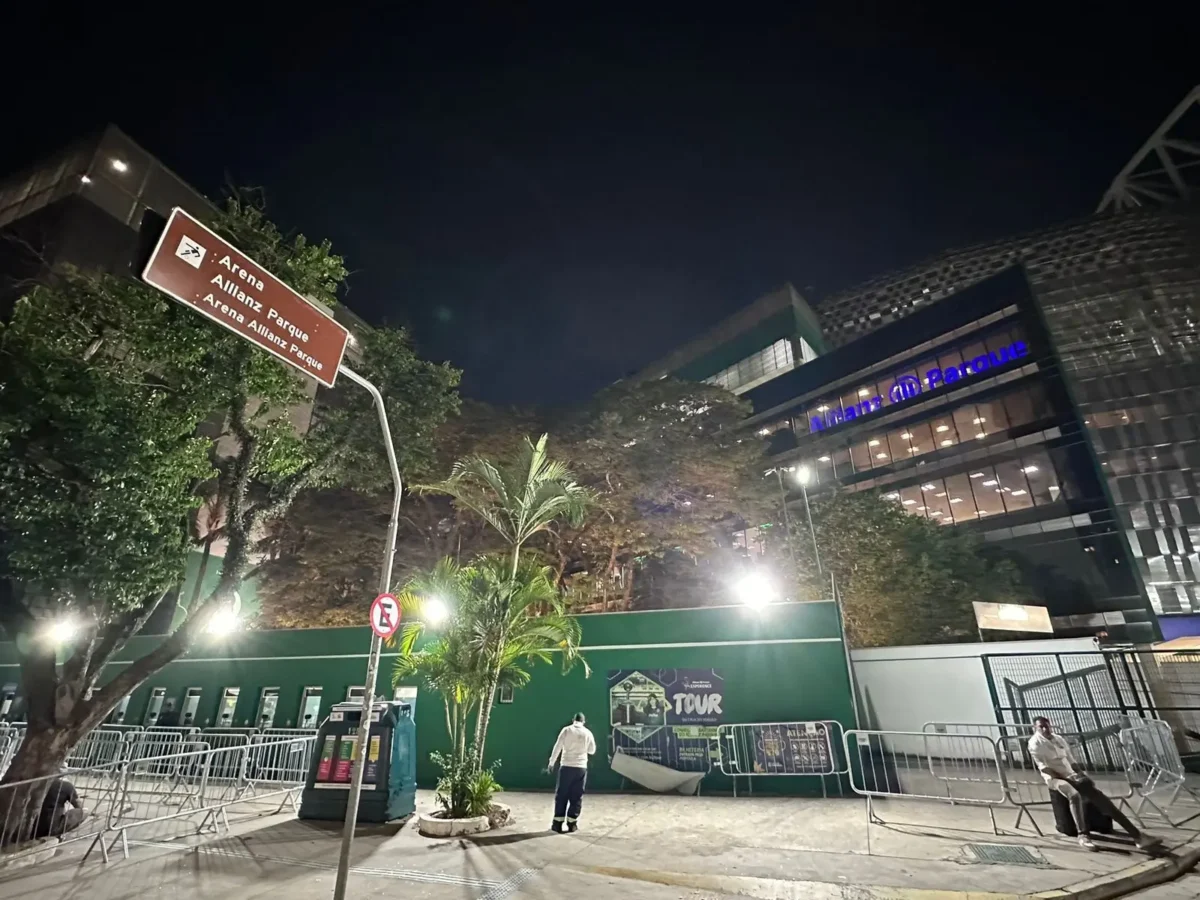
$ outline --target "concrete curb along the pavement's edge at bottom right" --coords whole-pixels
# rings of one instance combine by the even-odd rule
[[[886,884],[847,884],[817,881],[788,881],[744,875],[701,875],[624,869],[607,865],[565,865],[592,875],[625,878],[670,887],[736,894],[757,900],[1116,900],[1192,871],[1200,864],[1200,838],[1172,851],[1170,857],[1147,859],[1108,875],[1033,894],[944,888],[908,888]]]

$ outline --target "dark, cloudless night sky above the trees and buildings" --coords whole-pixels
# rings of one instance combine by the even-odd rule
[[[263,186],[282,227],[330,238],[346,301],[467,394],[570,403],[784,282],[818,301],[1088,214],[1200,82],[1165,14],[352,6],[18,23],[0,172],[113,121],[210,197]]]

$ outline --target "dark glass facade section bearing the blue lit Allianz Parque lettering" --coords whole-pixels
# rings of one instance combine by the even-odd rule
[[[1058,634],[1156,634],[1032,287],[996,275],[745,395],[810,497],[878,491],[1012,551]],[[799,491],[790,498],[799,503]],[[752,540],[752,538],[750,538]]]

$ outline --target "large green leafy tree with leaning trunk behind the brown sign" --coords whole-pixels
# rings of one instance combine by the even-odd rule
[[[336,301],[346,269],[328,244],[286,238],[236,198],[211,224],[301,294]],[[458,373],[420,360],[400,330],[365,329],[359,343],[402,466],[427,464]],[[299,492],[374,487],[386,464],[365,392],[323,395],[298,428],[296,410],[312,404],[298,373],[132,278],[54,274],[17,304],[0,365],[0,624],[20,655],[29,722],[13,781],[56,770],[232,605],[264,523]],[[202,422],[216,430],[200,438]],[[190,512],[204,499],[226,545],[216,589],[107,677],[179,584]]]

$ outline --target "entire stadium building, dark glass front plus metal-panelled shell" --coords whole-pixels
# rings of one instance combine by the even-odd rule
[[[641,377],[751,400],[810,491],[877,488],[1012,548],[1062,634],[1152,640],[1156,613],[1200,612],[1194,208],[947,252],[821,301],[817,334],[794,290],[772,298]]]

